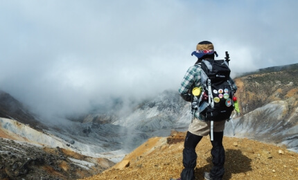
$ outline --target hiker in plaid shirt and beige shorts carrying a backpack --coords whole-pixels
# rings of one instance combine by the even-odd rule
[[[202,69],[202,62],[205,62],[205,64],[208,64],[209,61],[214,62],[214,56],[218,56],[216,51],[214,51],[213,44],[208,41],[200,42],[197,45],[196,51],[192,53],[192,55],[195,55],[198,57],[198,61],[195,62],[194,66],[191,66],[189,70],[186,72],[186,75],[184,76],[184,79],[182,80],[181,87],[179,88],[179,93],[182,98],[188,102],[191,102],[191,104],[194,103],[195,100],[198,100],[198,98],[195,98],[192,91],[194,90],[194,87],[202,87],[202,78],[204,75],[206,76],[206,72]],[[225,60],[222,60],[225,62]],[[226,62],[225,62],[226,63]],[[227,69],[228,66],[227,66]],[[216,75],[220,76],[220,75]],[[207,77],[204,77],[207,78]],[[223,102],[223,104],[227,105],[227,107],[232,107],[231,105],[231,96],[236,92],[236,85],[233,80],[229,77],[227,77],[227,82],[229,82],[229,86],[231,87],[229,89],[225,89],[225,91],[231,91],[231,94],[227,95],[225,97],[226,102]],[[212,80],[211,80],[212,83]],[[196,89],[198,90],[198,89]],[[199,89],[198,94],[201,93],[201,96],[198,97],[199,100],[201,100],[201,105],[204,103],[208,104],[208,96],[212,96],[212,94],[202,94],[202,91],[204,89]],[[210,104],[219,104],[216,102],[219,102],[219,100],[224,100],[223,96],[225,96],[223,89],[212,89],[213,93],[213,100],[210,100]],[[211,92],[212,93],[212,92]],[[197,95],[196,95],[197,96]],[[216,96],[216,97],[215,97]],[[229,99],[230,98],[230,99]],[[212,102],[213,101],[213,102]],[[204,103],[202,103],[204,102]],[[226,107],[226,108],[227,108]],[[231,109],[232,111],[233,109]],[[228,116],[231,115],[228,114]],[[207,114],[203,113],[202,109],[200,107],[192,107],[191,108],[191,124],[189,125],[188,132],[186,133],[186,138],[184,141],[184,150],[183,150],[183,165],[184,170],[181,172],[181,177],[179,179],[182,180],[193,180],[195,179],[195,166],[197,161],[197,154],[195,152],[195,147],[198,145],[200,140],[203,136],[211,136],[211,144],[212,144],[212,163],[213,167],[211,168],[210,172],[204,172],[204,178],[205,179],[222,179],[223,174],[225,173],[224,163],[225,163],[225,149],[222,146],[222,138],[224,134],[225,129],[225,120],[228,118],[225,116],[218,116],[214,122],[213,120],[207,119]]]

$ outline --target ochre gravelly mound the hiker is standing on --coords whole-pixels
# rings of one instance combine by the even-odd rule
[[[173,132],[168,138],[150,138],[105,172],[87,179],[170,179],[183,169],[182,150],[185,132]],[[285,147],[224,137],[226,152],[223,179],[297,179],[298,154]],[[202,138],[198,153],[196,179],[211,168],[211,143]]]

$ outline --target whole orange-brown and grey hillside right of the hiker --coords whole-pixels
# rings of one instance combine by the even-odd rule
[[[298,64],[263,69],[236,78],[241,116],[234,116],[237,137],[282,143],[298,152]],[[233,136],[227,123],[225,136]]]

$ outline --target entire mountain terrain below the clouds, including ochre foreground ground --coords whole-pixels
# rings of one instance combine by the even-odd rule
[[[297,77],[298,64],[292,64],[235,78],[240,113],[226,123],[225,179],[297,177]],[[189,106],[167,90],[125,116],[95,109],[49,123],[0,91],[0,179],[179,177]],[[198,179],[210,168],[209,138],[204,139]],[[240,162],[250,168],[238,167]]]

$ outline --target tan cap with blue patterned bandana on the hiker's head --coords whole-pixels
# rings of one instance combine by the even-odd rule
[[[215,54],[216,57],[218,57],[218,53],[214,51],[213,44],[207,41],[199,42],[199,44],[197,45],[197,51],[193,51],[193,53],[191,53],[191,55],[195,55],[199,59],[202,58],[204,55],[213,55],[213,54]]]

